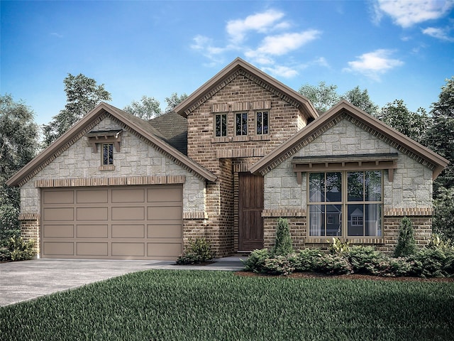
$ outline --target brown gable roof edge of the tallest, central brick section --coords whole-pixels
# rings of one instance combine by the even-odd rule
[[[187,117],[194,109],[206,102],[216,92],[228,85],[236,75],[242,73],[246,77],[256,82],[258,85],[265,87],[277,94],[281,99],[294,104],[299,109],[299,112],[309,121],[319,117],[314,105],[299,92],[287,87],[275,78],[262,72],[257,67],[250,65],[241,58],[236,58],[232,63],[224,67],[214,77],[204,85],[194,91],[187,99],[179,103],[175,107],[175,112],[182,117]]]

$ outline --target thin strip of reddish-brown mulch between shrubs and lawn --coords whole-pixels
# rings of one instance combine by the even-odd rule
[[[255,274],[250,271],[237,271],[235,273],[238,276],[245,277],[284,277],[284,278],[336,278],[336,279],[366,279],[370,281],[401,281],[401,282],[451,282],[454,283],[454,278],[446,277],[434,277],[434,278],[421,278],[421,277],[382,277],[372,275],[361,275],[361,274],[349,274],[349,275],[327,275],[319,274],[316,272],[294,272],[288,276],[273,276],[267,274]]]

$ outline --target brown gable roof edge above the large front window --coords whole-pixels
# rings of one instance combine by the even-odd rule
[[[279,163],[292,156],[303,146],[310,144],[311,141],[323,134],[326,129],[336,124],[336,119],[341,119],[343,115],[348,115],[348,117],[353,119],[355,124],[362,126],[364,129],[374,131],[375,135],[380,136],[381,139],[384,139],[387,143],[394,146],[394,148],[402,151],[402,153],[406,153],[419,160],[419,162],[426,164],[433,171],[433,179],[448,166],[449,161],[442,156],[421,146],[421,144],[418,144],[416,141],[343,99],[321,117],[305,126],[297,134],[260,159],[260,161],[250,168],[250,172],[256,174],[262,173],[264,175],[268,171],[271,171],[272,168],[275,168]]]

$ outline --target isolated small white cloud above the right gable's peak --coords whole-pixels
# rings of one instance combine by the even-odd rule
[[[349,67],[343,70],[348,72],[358,72],[362,75],[372,78],[373,80],[380,80],[380,75],[385,72],[404,65],[402,60],[389,58],[392,50],[375,50],[373,52],[364,53],[358,56],[358,60],[348,62]]]

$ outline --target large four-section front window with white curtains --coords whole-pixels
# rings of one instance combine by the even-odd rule
[[[381,237],[382,171],[309,173],[309,237]]]

